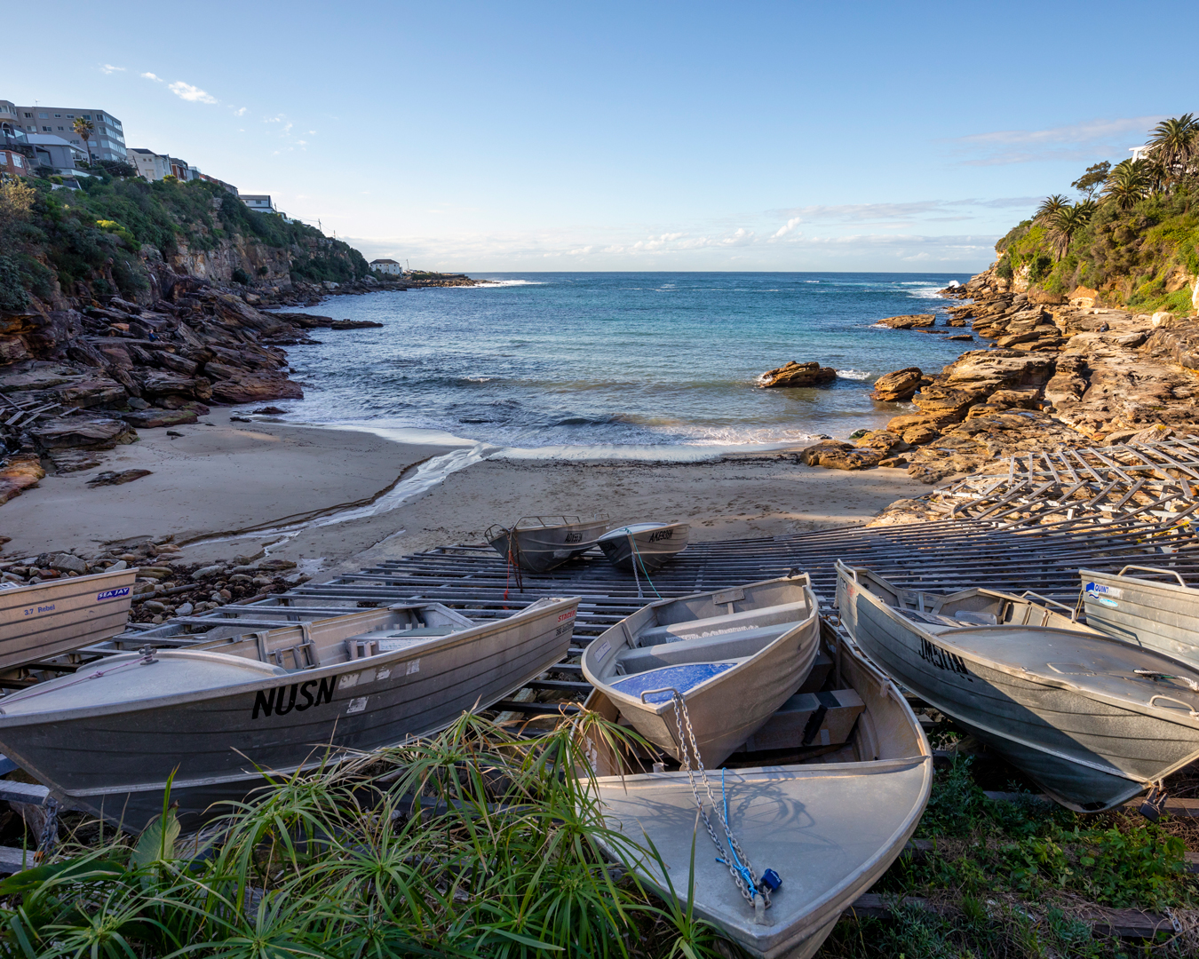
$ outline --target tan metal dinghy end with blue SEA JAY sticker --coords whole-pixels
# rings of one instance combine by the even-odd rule
[[[0,590],[0,669],[101,643],[125,628],[137,569]]]

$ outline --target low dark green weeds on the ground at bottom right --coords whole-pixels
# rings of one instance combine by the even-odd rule
[[[843,918],[820,955],[1194,955],[1199,889],[1177,834],[1188,828],[1122,812],[1080,815],[1034,794],[994,801],[978,784],[975,758],[959,756],[938,770],[916,832],[932,850],[898,860],[873,889],[894,897],[891,915]],[[1092,930],[1084,917],[1096,907],[1171,910],[1185,931],[1122,942]]]

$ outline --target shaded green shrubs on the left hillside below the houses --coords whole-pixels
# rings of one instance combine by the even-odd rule
[[[147,182],[95,168],[82,189],[55,189],[49,179],[10,179],[0,185],[0,309],[19,309],[29,294],[49,297],[56,278],[67,295],[84,284],[92,294],[133,297],[149,279],[139,251],[165,258],[186,245],[216,248],[222,240],[287,249],[293,279],[344,282],[367,275],[353,247],[313,227],[249,210],[216,183]],[[122,170],[123,173],[123,170]],[[251,282],[245,271],[235,282]]]

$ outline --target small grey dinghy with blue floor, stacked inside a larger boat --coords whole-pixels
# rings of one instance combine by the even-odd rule
[[[712,767],[803,684],[819,646],[819,603],[801,574],[651,603],[591,641],[583,675],[675,759],[677,690]]]

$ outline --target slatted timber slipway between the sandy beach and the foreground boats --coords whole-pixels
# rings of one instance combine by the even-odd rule
[[[1199,585],[1199,438],[1060,450],[1004,465],[1005,471],[970,476],[922,497],[924,521],[693,543],[651,583],[613,568],[598,549],[550,572],[518,578],[490,547],[446,545],[329,583],[131,628],[115,645],[186,646],[411,599],[445,603],[487,620],[510,616],[546,596],[577,595],[582,602],[567,657],[496,707],[538,713],[561,706],[571,712],[568,704],[591,689],[579,667],[583,646],[645,603],[796,569],[811,575],[829,615],[838,559],[909,589],[1031,591],[1071,608],[1078,601],[1080,567],[1119,572],[1128,565],[1155,566]],[[106,645],[103,651],[110,651],[112,644]]]

